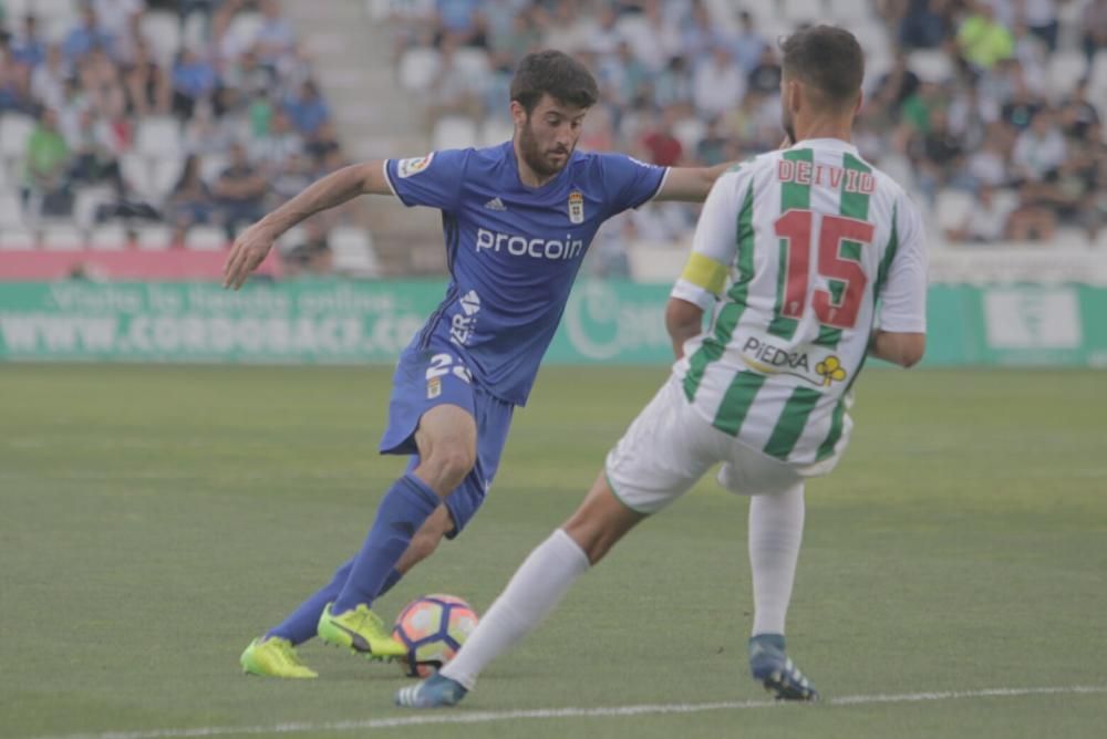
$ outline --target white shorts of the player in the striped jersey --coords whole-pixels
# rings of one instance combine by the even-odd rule
[[[608,485],[631,510],[655,513],[684,495],[717,462],[718,483],[741,495],[784,492],[809,476],[712,426],[670,377],[608,452]]]

